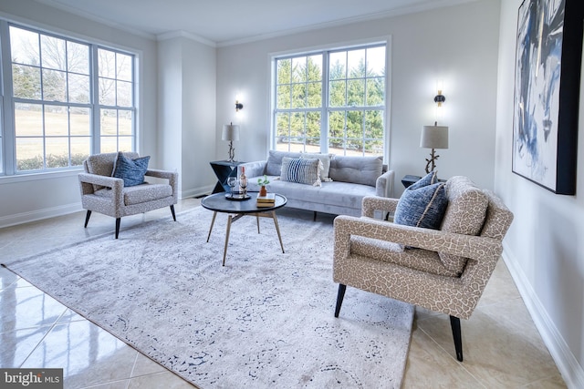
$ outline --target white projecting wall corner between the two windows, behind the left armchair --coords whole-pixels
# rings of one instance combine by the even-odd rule
[[[179,172],[181,197],[213,189],[215,49],[183,36],[159,43],[159,153]]]

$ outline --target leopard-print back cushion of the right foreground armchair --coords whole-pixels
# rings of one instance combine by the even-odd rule
[[[464,235],[478,235],[485,223],[489,199],[486,193],[474,186],[473,181],[456,176],[446,182],[448,207],[440,230]],[[466,258],[458,255],[440,253],[444,266],[462,273]]]

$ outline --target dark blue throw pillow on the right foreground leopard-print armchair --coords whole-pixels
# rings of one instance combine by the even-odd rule
[[[435,173],[432,172],[405,189],[398,201],[393,222],[438,230],[448,199],[445,184],[434,183],[436,180]]]

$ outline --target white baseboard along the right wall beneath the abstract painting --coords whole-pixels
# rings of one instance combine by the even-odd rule
[[[549,316],[546,308],[541,303],[531,283],[527,280],[525,272],[517,264],[515,258],[509,255],[504,244],[503,260],[505,261],[517,289],[526,303],[527,311],[531,314],[537,330],[541,334],[547,350],[558,366],[559,373],[568,385],[568,388],[584,388],[584,369],[570,351],[568,343],[564,340],[558,327]]]

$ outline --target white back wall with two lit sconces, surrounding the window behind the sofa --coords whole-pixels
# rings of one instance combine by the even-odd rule
[[[219,126],[235,116],[235,94],[245,105],[236,158],[265,159],[269,133],[269,56],[336,47],[391,36],[390,160],[400,179],[422,175],[429,150],[420,148],[423,125],[434,122],[436,82],[443,80],[450,148],[438,150],[442,178],[465,175],[493,189],[499,2],[478,1],[412,15],[274,37],[217,50],[217,156],[226,146]]]

